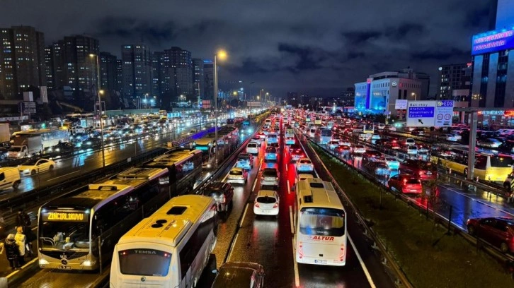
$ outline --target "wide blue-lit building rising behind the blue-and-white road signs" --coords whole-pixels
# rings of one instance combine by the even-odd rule
[[[362,114],[396,114],[396,100],[426,100],[430,78],[411,68],[370,75],[355,83],[355,112]]]

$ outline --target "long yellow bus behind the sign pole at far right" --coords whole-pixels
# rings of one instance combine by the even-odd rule
[[[430,161],[453,172],[467,175],[467,145],[433,145]],[[491,152],[475,152],[474,178],[485,181],[504,181],[513,171],[513,157]]]

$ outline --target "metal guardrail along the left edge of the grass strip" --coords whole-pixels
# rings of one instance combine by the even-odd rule
[[[298,136],[297,136],[297,138],[300,139]],[[314,143],[309,138],[306,138],[306,139],[308,141],[311,141],[312,143]],[[314,144],[317,145],[316,143],[314,143]],[[301,141],[300,141],[300,145],[302,145]],[[319,147],[321,148],[321,146],[319,146]],[[304,147],[304,150],[307,152],[305,147]],[[382,242],[382,240],[379,239],[379,237],[377,236],[377,234],[375,234],[373,229],[371,229],[367,225],[367,222],[364,219],[364,217],[362,217],[360,215],[360,210],[358,210],[358,208],[355,205],[353,205],[352,201],[350,200],[348,195],[345,193],[343,188],[341,188],[341,186],[339,186],[339,184],[336,181],[336,179],[333,178],[333,175],[331,174],[330,170],[325,166],[324,162],[321,161],[321,158],[319,158],[319,155],[316,153],[316,151],[314,151],[310,147],[310,145],[309,145],[309,150],[312,152],[312,154],[314,154],[314,156],[316,157],[316,160],[321,164],[321,167],[323,167],[324,172],[327,175],[329,175],[329,177],[331,179],[331,183],[336,188],[336,191],[338,192],[338,194],[340,196],[342,196],[344,198],[344,200],[345,200],[345,203],[352,208],[352,210],[354,211],[355,217],[357,217],[357,219],[359,220],[360,224],[362,224],[362,227],[364,227],[365,234],[368,235],[374,241],[374,244],[373,244],[372,248],[376,248],[377,250],[380,251],[380,253],[382,253],[382,256],[384,257],[383,264],[387,265],[392,270],[392,272],[394,273],[394,277],[396,278],[396,281],[395,281],[396,285],[401,285],[401,287],[412,288],[413,286],[412,286],[411,282],[409,282],[409,280],[407,279],[407,277],[404,274],[403,270],[401,270],[399,265],[396,264],[394,258],[390,255],[389,251],[387,250],[387,246],[385,246],[384,243]]]

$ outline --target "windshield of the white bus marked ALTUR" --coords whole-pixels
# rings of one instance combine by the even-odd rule
[[[345,212],[331,208],[302,208],[299,232],[305,235],[343,236]]]

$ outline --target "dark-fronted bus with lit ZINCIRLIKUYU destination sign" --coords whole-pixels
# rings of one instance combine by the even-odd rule
[[[98,269],[132,224],[169,200],[165,179],[166,169],[133,168],[42,205],[38,212],[40,268]]]

